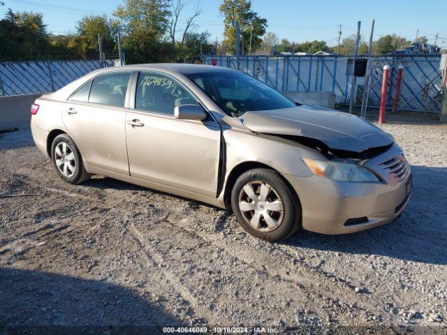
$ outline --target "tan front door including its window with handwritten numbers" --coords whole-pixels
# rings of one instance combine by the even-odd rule
[[[198,101],[172,78],[140,73],[126,116],[131,176],[215,198],[221,129],[212,118],[175,119],[175,105],[191,103]]]

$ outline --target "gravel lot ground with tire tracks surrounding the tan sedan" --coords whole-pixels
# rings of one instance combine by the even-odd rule
[[[382,127],[412,165],[402,216],[365,232],[301,231],[277,244],[198,202],[99,176],[66,184],[29,131],[0,135],[0,330],[244,325],[445,334],[447,126]]]

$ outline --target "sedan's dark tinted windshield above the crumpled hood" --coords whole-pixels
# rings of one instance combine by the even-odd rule
[[[186,75],[212,98],[228,115],[240,117],[245,112],[279,110],[295,103],[259,80],[233,71]]]

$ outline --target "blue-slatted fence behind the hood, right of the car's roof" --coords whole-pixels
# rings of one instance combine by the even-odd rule
[[[240,70],[278,91],[331,91],[336,102],[349,104],[351,76],[346,75],[345,56],[249,56],[240,57]],[[372,77],[368,106],[379,107],[383,66],[390,66],[386,107],[392,107],[396,94],[397,66],[404,66],[399,110],[440,113],[442,85],[439,62],[435,55],[396,55],[372,57]],[[205,64],[237,68],[236,57],[205,57]],[[354,105],[360,105],[363,78],[358,77]]]

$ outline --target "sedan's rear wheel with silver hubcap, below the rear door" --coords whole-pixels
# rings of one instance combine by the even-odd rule
[[[51,161],[61,179],[70,184],[81,184],[90,179],[82,163],[75,142],[66,134],[57,135],[51,145]]]

